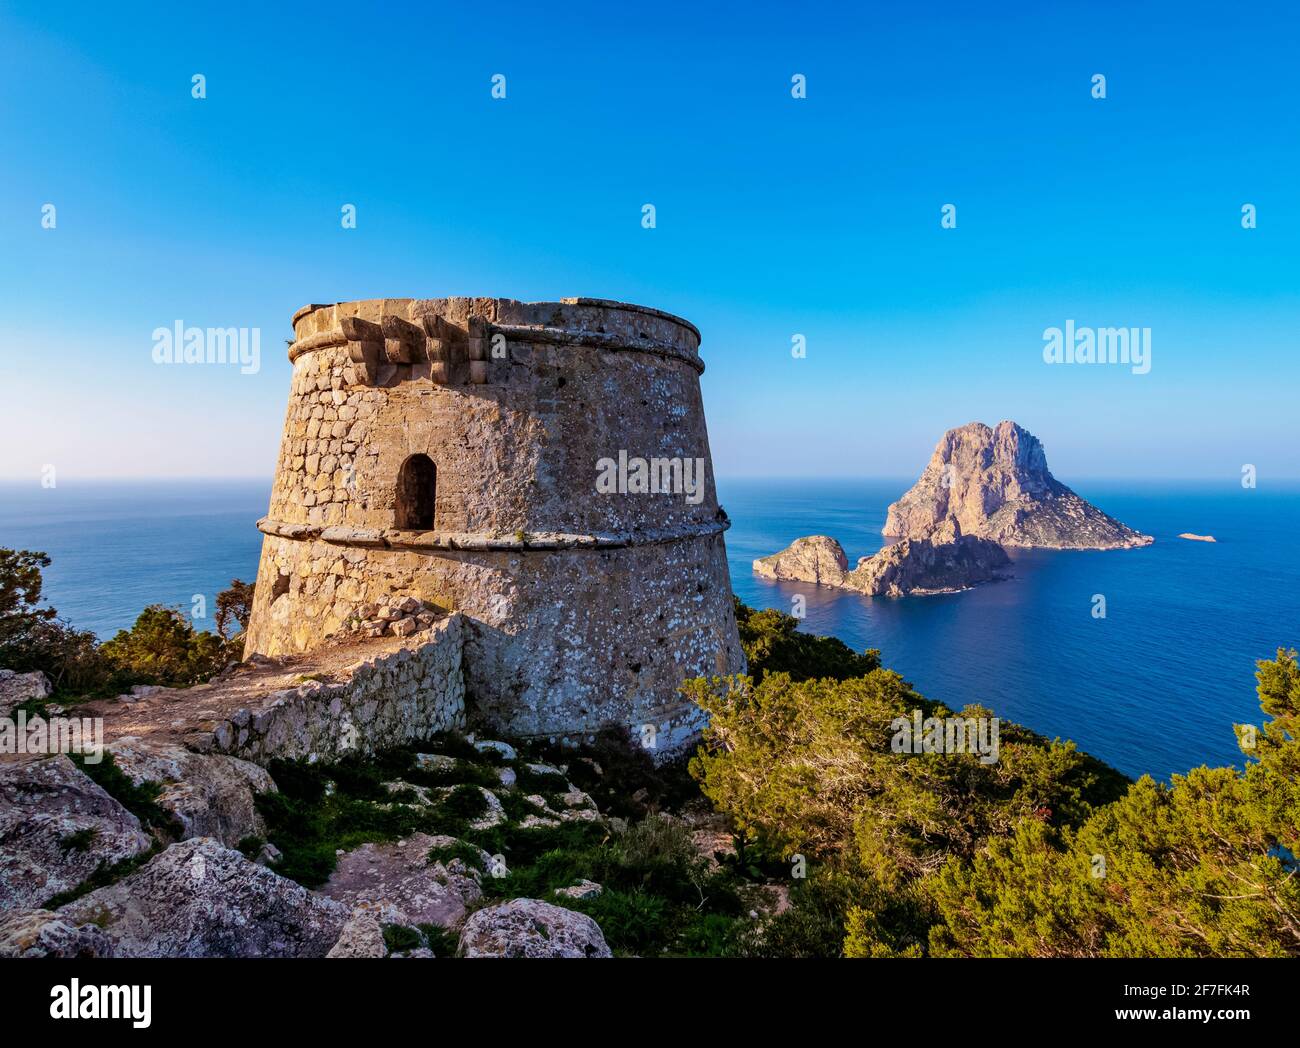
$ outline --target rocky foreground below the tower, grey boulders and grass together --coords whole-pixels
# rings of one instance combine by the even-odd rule
[[[0,758],[0,956],[689,953],[750,905],[716,817],[644,814],[649,761],[456,733],[339,763],[108,753]]]

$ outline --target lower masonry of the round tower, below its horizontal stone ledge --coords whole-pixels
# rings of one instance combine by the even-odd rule
[[[355,564],[348,553],[266,540],[276,571],[316,583],[315,598],[272,609],[283,628],[309,641],[320,616],[346,622],[334,603],[344,586],[358,601],[452,603],[467,616],[469,713],[512,735],[621,724],[640,737],[651,724],[676,737],[664,726],[682,711],[681,681],[745,664],[720,536],[543,554],[368,550]],[[324,575],[311,575],[316,564]]]

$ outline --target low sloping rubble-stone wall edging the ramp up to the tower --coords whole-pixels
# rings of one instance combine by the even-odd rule
[[[217,722],[200,750],[256,763],[372,754],[465,724],[463,620],[436,623],[425,644],[365,659],[341,681],[270,692]]]

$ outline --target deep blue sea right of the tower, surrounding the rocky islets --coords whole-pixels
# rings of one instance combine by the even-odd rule
[[[1232,724],[1260,719],[1254,661],[1300,648],[1300,486],[1071,484],[1154,545],[1011,551],[1013,580],[965,593],[871,598],[754,576],[755,557],[803,534],[835,536],[850,563],[875,553],[885,511],[907,486],[719,484],[736,521],[727,533],[732,588],[746,603],[784,611],[805,593],[806,629],[879,648],[923,694],[983,703],[1130,775],[1240,763]],[[1105,619],[1092,618],[1098,593]]]

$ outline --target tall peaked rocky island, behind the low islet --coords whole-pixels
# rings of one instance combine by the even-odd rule
[[[946,520],[1004,546],[1113,550],[1154,540],[1079,498],[1048,469],[1039,438],[1013,421],[949,429],[881,529],[928,538]]]

